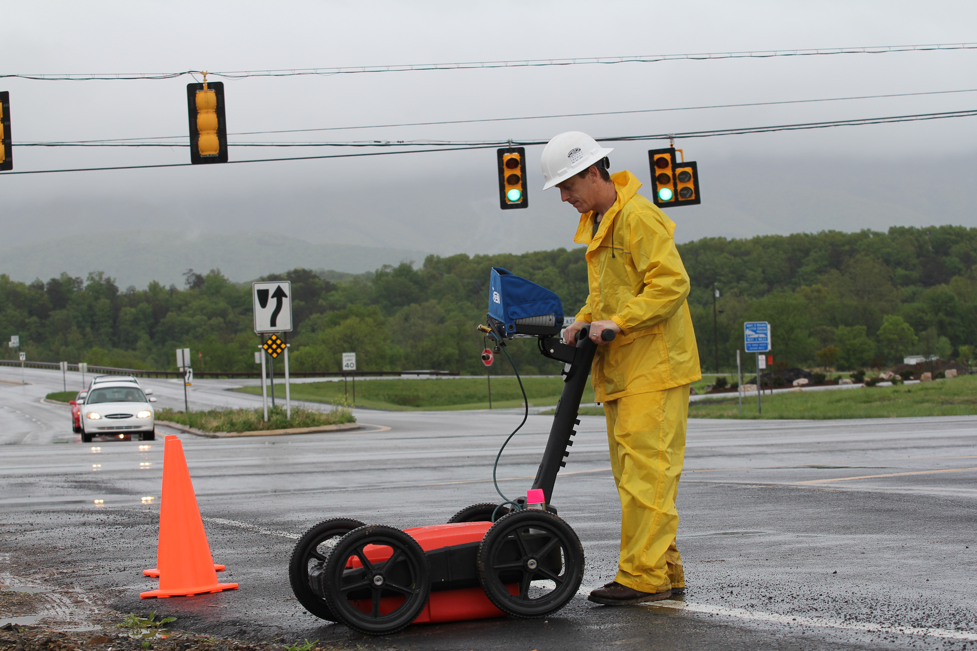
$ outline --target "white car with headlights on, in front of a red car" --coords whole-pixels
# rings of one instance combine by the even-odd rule
[[[144,393],[139,384],[131,380],[100,381],[92,383],[81,406],[81,440],[91,443],[93,436],[111,436],[119,439],[126,434],[139,435],[143,441],[154,441],[155,410],[149,403],[156,402]]]

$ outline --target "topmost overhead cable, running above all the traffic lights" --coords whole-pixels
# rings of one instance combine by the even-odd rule
[[[627,57],[580,57],[573,59],[531,59],[522,61],[483,61],[454,64],[351,65],[345,67],[282,68],[276,70],[233,70],[209,72],[182,70],[179,72],[95,72],[89,74],[10,73],[2,77],[18,77],[39,81],[114,81],[131,79],[172,79],[186,74],[203,74],[225,79],[247,77],[292,77],[300,75],[330,76],[333,74],[361,74],[365,72],[416,72],[421,70],[462,70],[496,67],[538,67],[544,65],[614,65],[655,64],[663,61],[713,61],[720,59],[770,59],[774,57],[813,57],[843,54],[889,54],[893,52],[928,52],[933,50],[974,50],[977,43],[939,43],[930,45],[877,45],[846,48],[814,48],[807,50],[762,50],[750,52],[703,52],[697,54],[635,55]]]

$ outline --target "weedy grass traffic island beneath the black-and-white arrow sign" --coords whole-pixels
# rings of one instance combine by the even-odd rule
[[[356,422],[356,418],[346,407],[336,407],[331,412],[292,409],[292,417],[285,416],[283,407],[268,410],[268,421],[263,410],[211,410],[209,412],[174,412],[157,409],[156,420],[180,423],[203,432],[257,432],[272,429],[292,429],[296,427],[319,427]]]

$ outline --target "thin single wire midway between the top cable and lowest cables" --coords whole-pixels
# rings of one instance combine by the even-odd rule
[[[540,120],[540,119],[551,119],[559,117],[590,117],[598,115],[625,115],[633,113],[656,113],[656,112],[667,112],[674,110],[698,110],[698,109],[741,109],[747,107],[770,107],[788,104],[811,104],[818,102],[842,102],[847,100],[876,100],[879,98],[893,98],[893,97],[917,97],[922,95],[948,95],[955,93],[975,93],[977,88],[967,88],[961,90],[950,90],[950,91],[926,91],[922,93],[889,93],[886,95],[856,95],[852,97],[832,97],[823,98],[817,100],[786,100],[780,102],[750,102],[747,104],[716,104],[716,105],[706,105],[699,107],[679,107],[673,109],[634,109],[634,110],[605,110],[599,112],[591,113],[561,113],[555,115],[530,115],[526,117],[487,117],[481,119],[471,119],[471,120],[443,120],[440,122],[404,122],[401,124],[373,124],[364,126],[352,126],[352,127],[319,127],[314,129],[279,129],[276,131],[239,131],[236,133],[230,133],[229,136],[260,136],[265,134],[277,134],[277,133],[311,133],[315,131],[351,131],[356,129],[382,129],[388,127],[407,127],[407,126],[435,126],[443,124],[472,124],[477,122],[507,122],[516,120]],[[161,146],[161,147],[189,147],[184,144],[155,144],[148,143],[147,141],[152,140],[185,140],[187,138],[186,134],[180,136],[149,136],[146,138],[106,138],[100,140],[70,140],[70,141],[47,141],[47,142],[24,142],[24,143],[14,143],[19,147],[109,147],[115,146],[113,143],[135,143],[140,141],[143,144],[139,147],[150,147],[150,146]],[[240,145],[235,143],[235,145]]]

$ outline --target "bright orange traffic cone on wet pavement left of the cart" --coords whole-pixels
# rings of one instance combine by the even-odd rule
[[[163,451],[163,492],[159,504],[156,568],[159,589],[141,592],[139,596],[144,599],[191,596],[237,587],[237,584],[217,582],[216,566],[193,494],[183,443],[176,436],[166,437]]]

